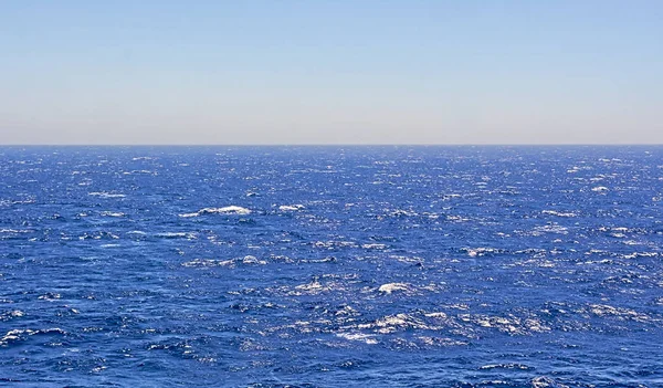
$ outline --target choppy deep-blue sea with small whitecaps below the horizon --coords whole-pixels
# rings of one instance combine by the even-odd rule
[[[1,147],[0,385],[663,387],[663,147]]]

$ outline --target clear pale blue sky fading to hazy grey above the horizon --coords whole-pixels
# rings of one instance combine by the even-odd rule
[[[0,0],[0,144],[663,144],[663,1]]]

